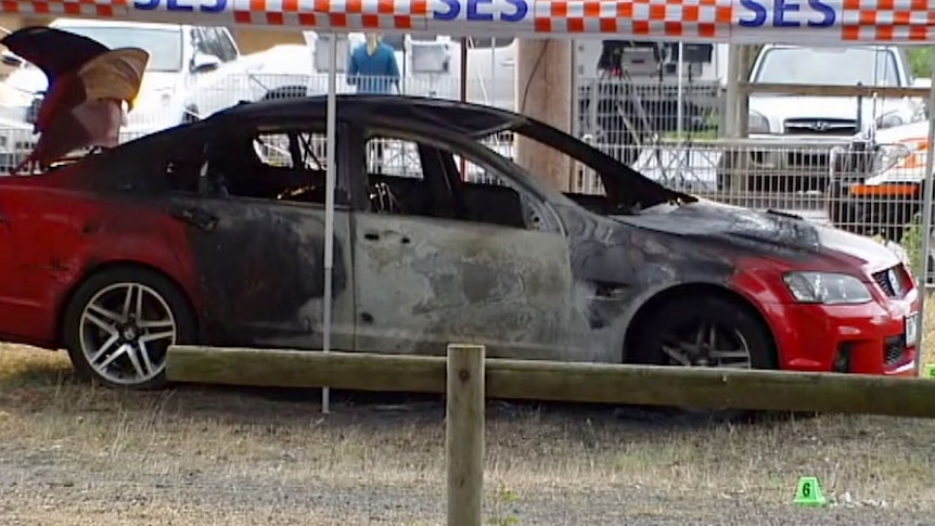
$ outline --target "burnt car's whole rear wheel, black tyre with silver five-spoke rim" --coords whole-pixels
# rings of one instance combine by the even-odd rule
[[[196,334],[184,293],[163,274],[139,267],[88,278],[65,308],[62,326],[79,374],[130,389],[165,387],[168,346],[194,343]]]

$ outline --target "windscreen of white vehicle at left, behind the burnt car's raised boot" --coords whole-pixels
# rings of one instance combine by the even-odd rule
[[[137,27],[56,26],[97,40],[111,49],[140,48],[150,53],[148,72],[180,72],[182,69],[182,31],[179,29],[146,29]]]

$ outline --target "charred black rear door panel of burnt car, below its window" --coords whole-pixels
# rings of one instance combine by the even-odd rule
[[[324,313],[324,207],[176,195],[164,204],[193,249],[206,343],[320,349]],[[207,223],[185,219],[200,214]],[[348,214],[334,214],[332,344],[354,334]]]

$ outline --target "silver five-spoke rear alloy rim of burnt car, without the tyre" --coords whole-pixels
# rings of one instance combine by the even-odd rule
[[[139,283],[102,288],[87,303],[79,321],[88,364],[102,379],[121,385],[142,384],[162,373],[177,336],[166,299]]]

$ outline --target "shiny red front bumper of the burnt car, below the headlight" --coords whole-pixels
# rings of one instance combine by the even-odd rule
[[[773,304],[770,325],[780,367],[805,372],[914,376],[921,324],[918,293],[886,305]],[[907,342],[907,318],[915,342]]]

